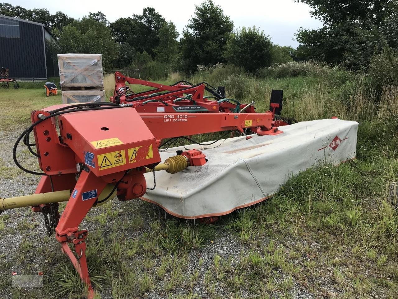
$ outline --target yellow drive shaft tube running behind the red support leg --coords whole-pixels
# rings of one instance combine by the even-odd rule
[[[108,184],[98,197],[98,201],[105,199],[115,186]],[[23,195],[10,198],[0,198],[0,211],[31,207],[38,205],[45,205],[46,203],[59,203],[61,201],[68,201],[71,190],[54,191],[48,193],[38,193],[31,195]],[[109,197],[112,199],[116,195],[116,190]]]

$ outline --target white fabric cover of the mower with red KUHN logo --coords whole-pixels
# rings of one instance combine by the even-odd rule
[[[279,129],[284,133],[253,134],[249,140],[242,136],[211,146],[191,144],[161,151],[164,161],[178,150],[198,149],[208,161],[176,174],[157,171],[156,189],[141,198],[182,218],[224,215],[267,199],[301,171],[355,157],[357,122],[312,120]],[[152,187],[153,173],[146,173],[145,178]]]

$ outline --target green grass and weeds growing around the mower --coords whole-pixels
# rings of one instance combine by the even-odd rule
[[[164,83],[180,78],[170,75]],[[113,88],[111,80],[105,82]],[[315,298],[397,298],[398,214],[388,188],[398,181],[398,88],[369,94],[369,78],[338,69],[270,79],[227,67],[189,81],[224,85],[230,98],[256,100],[259,112],[267,110],[271,89],[283,89],[284,116],[356,120],[357,158],[305,171],[271,199],[210,225],[175,219],[142,201],[92,209],[81,228],[90,227],[87,256],[97,297],[298,298],[300,291]],[[61,102],[43,90],[0,90],[4,134],[23,131],[32,110]],[[11,213],[0,216],[0,238],[26,239],[2,271],[12,263],[31,267],[28,257],[37,255],[47,260],[48,276],[39,291],[13,289],[7,279],[1,287],[13,298],[78,298],[84,288],[57,242],[29,240],[35,222],[21,217],[15,226]],[[222,249],[228,246],[233,250]]]

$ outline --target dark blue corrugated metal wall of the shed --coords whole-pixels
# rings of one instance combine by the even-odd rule
[[[10,78],[47,78],[43,26],[0,17],[0,67]]]

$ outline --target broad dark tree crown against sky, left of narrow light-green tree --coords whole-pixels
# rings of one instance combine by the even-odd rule
[[[111,23],[110,27],[118,43],[127,42],[137,51],[146,51],[154,57],[154,49],[159,44],[159,30],[164,22],[164,18],[154,8],[146,7],[142,15],[120,18]]]

